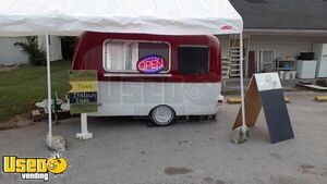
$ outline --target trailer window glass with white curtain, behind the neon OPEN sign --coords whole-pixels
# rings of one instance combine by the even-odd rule
[[[104,50],[104,66],[107,72],[138,72],[138,59],[152,54],[161,56],[167,62],[160,73],[170,69],[170,47],[166,42],[108,40]]]

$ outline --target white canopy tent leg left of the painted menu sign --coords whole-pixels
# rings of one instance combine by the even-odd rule
[[[52,144],[52,110],[51,110],[51,70],[50,70],[50,49],[49,49],[49,34],[46,34],[46,51],[47,51],[47,83],[48,83],[48,146]]]

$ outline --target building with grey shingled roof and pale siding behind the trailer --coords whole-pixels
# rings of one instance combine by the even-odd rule
[[[230,0],[230,2],[244,21],[246,76],[265,70],[276,71],[277,59],[296,60],[301,52],[312,52],[313,45],[327,44],[326,0]],[[238,37],[218,36],[218,38],[222,47],[222,57],[229,60],[233,42],[238,42],[233,40],[238,40]]]

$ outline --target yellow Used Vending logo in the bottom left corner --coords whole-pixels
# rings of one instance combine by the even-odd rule
[[[62,174],[68,169],[68,161],[60,154],[55,152],[50,158],[19,158],[16,156],[2,157],[4,173],[21,174],[22,180],[49,181],[49,173]]]

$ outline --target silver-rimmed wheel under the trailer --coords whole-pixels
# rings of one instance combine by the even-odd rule
[[[150,112],[150,119],[154,124],[167,126],[175,119],[175,113],[172,108],[166,105],[155,107]]]

